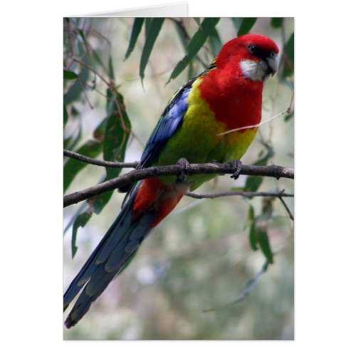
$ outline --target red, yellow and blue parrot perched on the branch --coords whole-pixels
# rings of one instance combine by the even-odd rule
[[[179,164],[184,172],[190,163],[231,162],[236,167],[231,177],[237,179],[240,159],[261,122],[263,84],[276,73],[278,51],[271,38],[260,34],[226,42],[211,65],[169,100],[137,168]],[[66,318],[66,328],[83,318],[184,194],[214,177],[150,177],[126,189],[120,214],[64,293],[66,310],[81,291]]]

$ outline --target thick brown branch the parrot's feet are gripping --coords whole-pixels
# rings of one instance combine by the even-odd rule
[[[122,174],[120,177],[110,179],[100,183],[94,187],[83,189],[73,194],[68,194],[63,198],[63,206],[76,204],[79,201],[90,199],[99,194],[109,192],[119,187],[130,185],[145,178],[162,177],[162,176],[179,176],[180,174],[233,174],[236,168],[229,163],[205,163],[205,164],[190,164],[187,169],[182,168],[179,164],[149,167],[144,169],[135,169],[127,174]],[[240,174],[258,175],[264,177],[274,177],[294,179],[294,169],[276,165],[271,166],[250,166],[242,165]]]

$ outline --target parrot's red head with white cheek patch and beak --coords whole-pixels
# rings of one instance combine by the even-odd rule
[[[227,42],[216,58],[216,66],[234,67],[245,78],[265,80],[276,73],[278,46],[271,38],[247,34]]]

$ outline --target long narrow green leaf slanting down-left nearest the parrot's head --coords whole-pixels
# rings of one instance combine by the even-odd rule
[[[219,20],[220,20],[219,17],[218,18],[210,17],[204,19],[198,31],[194,33],[194,36],[188,43],[187,55],[184,56],[184,58],[181,61],[179,61],[177,66],[174,68],[171,76],[169,77],[168,82],[171,79],[177,78],[177,76],[180,73],[182,73],[182,71],[189,65],[189,63],[192,61],[194,56],[196,56],[196,54],[199,52],[199,49],[206,42],[206,38],[208,38],[211,35],[211,33],[214,31],[215,26],[219,22]]]

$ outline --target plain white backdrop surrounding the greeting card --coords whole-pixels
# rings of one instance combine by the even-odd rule
[[[355,352],[355,11],[342,0],[337,7],[189,1],[189,16],[295,17],[295,341],[62,341],[62,18],[155,4],[165,1],[2,7],[1,348],[6,355]]]

